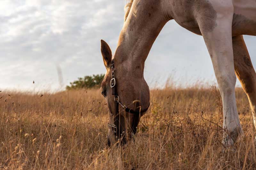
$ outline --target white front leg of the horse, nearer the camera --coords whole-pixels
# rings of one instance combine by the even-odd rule
[[[226,3],[226,5],[225,5]],[[223,103],[223,144],[233,145],[243,134],[236,108],[236,74],[232,48],[233,6],[228,1],[216,8],[214,28],[208,29],[204,20],[198,24],[212,59]],[[208,24],[208,23],[206,23]]]

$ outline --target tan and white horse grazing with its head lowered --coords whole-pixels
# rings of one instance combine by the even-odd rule
[[[107,69],[101,84],[110,110],[108,143],[126,141],[149,106],[144,63],[164,25],[174,19],[202,35],[210,54],[223,103],[223,144],[243,136],[236,108],[236,76],[248,96],[256,128],[256,73],[243,35],[256,35],[255,0],[132,0],[115,55],[101,40]]]

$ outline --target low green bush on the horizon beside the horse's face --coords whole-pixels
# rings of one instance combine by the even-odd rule
[[[67,90],[71,89],[91,89],[100,87],[100,83],[104,79],[104,74],[79,77],[78,80],[70,82],[70,86],[66,86]]]

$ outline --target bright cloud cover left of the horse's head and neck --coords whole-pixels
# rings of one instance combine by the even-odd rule
[[[56,64],[66,84],[104,73],[100,39],[117,42],[123,24],[117,17],[124,13],[122,2],[26,0],[0,6],[1,88],[30,88],[34,79],[57,88]]]

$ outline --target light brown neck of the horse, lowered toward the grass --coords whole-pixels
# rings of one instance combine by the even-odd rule
[[[148,53],[168,21],[163,15],[161,6],[160,1],[134,0],[119,36],[115,53],[116,62],[140,63],[144,70]],[[134,64],[130,65],[136,67]]]

